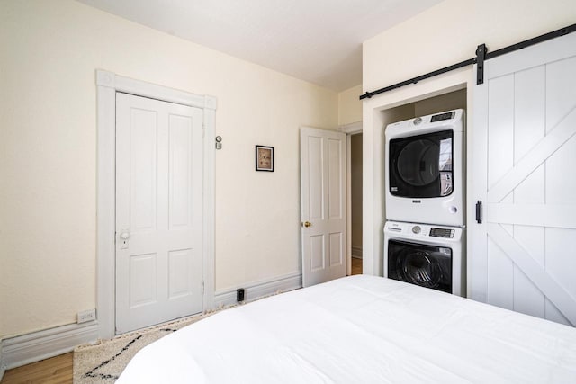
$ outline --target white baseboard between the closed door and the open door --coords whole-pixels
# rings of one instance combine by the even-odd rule
[[[238,288],[244,288],[245,301],[252,301],[266,295],[271,295],[278,290],[287,291],[302,288],[302,273],[296,272],[276,277],[275,279],[256,281]],[[214,308],[227,307],[235,304],[236,290],[236,288],[233,288],[216,291],[214,294]]]

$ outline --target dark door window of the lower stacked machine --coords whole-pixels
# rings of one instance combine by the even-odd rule
[[[452,249],[389,240],[388,277],[452,293]]]

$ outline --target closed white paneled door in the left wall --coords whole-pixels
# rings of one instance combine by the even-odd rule
[[[202,110],[116,94],[116,333],[202,311]]]

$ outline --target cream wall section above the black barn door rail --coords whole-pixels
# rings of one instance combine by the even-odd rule
[[[482,43],[493,51],[574,20],[574,0],[445,0],[364,42],[363,89],[473,58]]]

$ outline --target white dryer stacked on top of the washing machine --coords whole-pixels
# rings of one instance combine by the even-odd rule
[[[386,219],[464,226],[464,110],[386,127]]]

